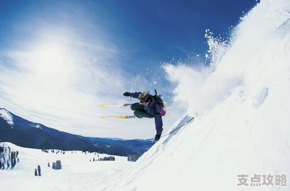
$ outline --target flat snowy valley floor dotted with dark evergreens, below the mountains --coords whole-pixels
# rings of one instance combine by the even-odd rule
[[[118,172],[133,163],[124,156],[114,156],[115,161],[93,161],[93,158],[111,155],[99,154],[98,157],[95,153],[85,154],[82,151],[67,151],[64,154],[60,151],[56,154],[50,150],[44,153],[39,149],[22,148],[7,142],[0,145],[9,146],[11,151],[19,151],[19,163],[14,169],[11,170],[11,166],[6,169],[5,163],[5,170],[0,170],[1,191],[98,191],[99,186],[94,184],[96,179],[104,179],[107,173]],[[8,153],[7,149],[7,158]],[[52,163],[56,160],[61,160],[61,170],[52,169]],[[38,165],[41,166],[41,176],[34,176]]]

